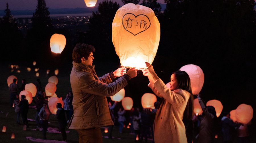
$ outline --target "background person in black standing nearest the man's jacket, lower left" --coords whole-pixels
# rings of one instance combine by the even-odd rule
[[[56,112],[56,118],[59,122],[59,130],[61,131],[63,141],[67,140],[67,134],[65,131],[65,127],[67,126],[66,118],[65,118],[65,111],[61,107],[61,103],[57,103],[56,108],[58,109]]]

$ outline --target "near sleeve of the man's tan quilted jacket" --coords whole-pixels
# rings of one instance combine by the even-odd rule
[[[95,79],[90,74],[79,78],[79,87],[82,92],[99,96],[113,96],[126,85],[127,79],[124,76],[109,84]]]

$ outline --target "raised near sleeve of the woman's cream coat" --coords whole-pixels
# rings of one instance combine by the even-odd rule
[[[182,90],[176,90],[176,92],[172,92],[166,87],[161,79],[156,80],[154,87],[164,99],[176,107],[183,106],[189,99],[189,96],[183,94]]]

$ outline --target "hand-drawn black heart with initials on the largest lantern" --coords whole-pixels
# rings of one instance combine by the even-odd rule
[[[144,14],[135,16],[132,13],[125,14],[122,23],[123,28],[134,36],[147,30],[151,25],[148,16]]]

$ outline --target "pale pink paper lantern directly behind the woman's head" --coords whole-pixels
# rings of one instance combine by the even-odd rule
[[[203,73],[203,70],[199,66],[196,66],[194,64],[185,65],[181,67],[179,70],[186,71],[187,74],[189,75],[192,94],[199,94],[205,81],[205,75]]]

